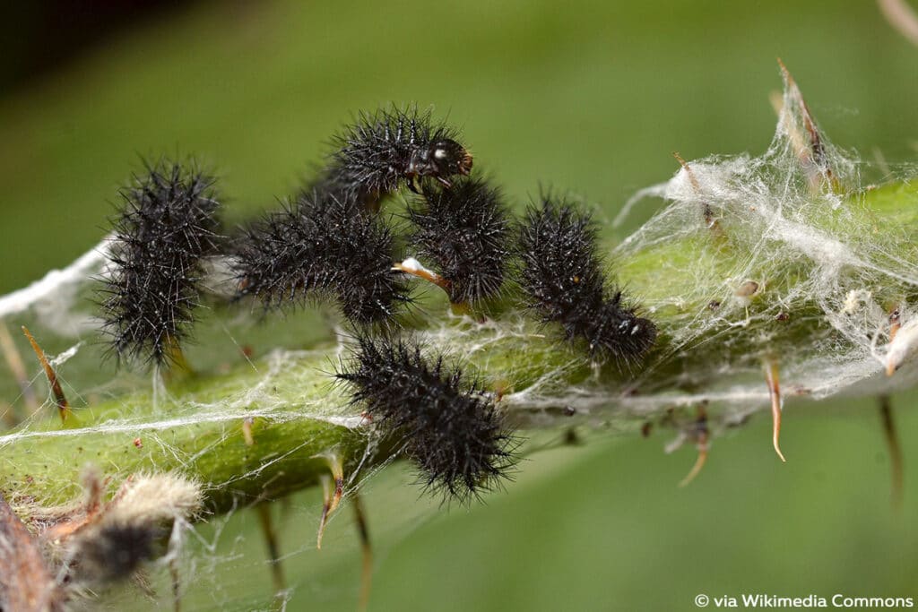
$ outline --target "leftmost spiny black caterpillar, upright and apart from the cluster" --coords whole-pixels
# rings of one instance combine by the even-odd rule
[[[118,357],[162,365],[181,360],[202,258],[218,250],[219,205],[214,180],[194,167],[160,161],[145,170],[120,192],[101,307]]]

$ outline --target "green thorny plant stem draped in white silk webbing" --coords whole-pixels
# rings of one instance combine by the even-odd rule
[[[887,238],[893,236],[893,246],[899,245],[903,256],[911,258],[915,258],[916,194],[913,186],[895,184],[855,198],[864,205],[859,214],[870,227]],[[834,218],[826,216],[814,223],[831,228]],[[703,312],[717,297],[698,291],[699,267],[716,275],[718,268],[729,268],[734,256],[717,239],[701,235],[655,244],[630,259],[615,261],[630,293],[645,304],[664,305],[652,315],[660,337],[648,356],[655,367],[644,376],[642,392],[706,388],[717,380],[716,373],[704,371],[700,363],[720,343],[700,341],[685,351],[674,351],[670,342],[687,316]],[[777,292],[794,282],[793,268],[784,273],[785,278],[767,279],[767,291]],[[673,295],[689,297],[674,304],[669,300]],[[768,293],[758,299],[767,300]],[[767,323],[767,342],[762,341],[761,329],[753,333],[712,326],[708,333],[711,339],[733,334],[730,351],[737,359],[754,361],[782,346],[801,346],[814,328],[828,327],[808,316],[821,314],[814,304],[792,306],[795,316],[788,321]],[[755,310],[755,302],[749,307]],[[509,395],[502,401],[511,405],[516,401],[517,407],[526,407],[523,392],[536,385],[542,396],[558,398],[574,385],[592,384],[610,397],[628,388],[632,376],[628,369],[607,364],[594,371],[582,347],[558,341],[549,328],[521,321],[514,312],[484,325],[457,317],[428,321],[435,328],[428,329],[425,342],[431,351],[446,350],[468,362],[486,384]],[[337,351],[338,347],[328,346],[280,359],[269,357],[256,362],[259,372],[245,365],[229,373],[198,375],[171,384],[158,401],[152,389],[116,397],[77,410],[75,423],[67,428],[50,417],[30,422],[0,436],[0,490],[28,515],[78,499],[80,476],[89,464],[113,483],[134,473],[179,471],[203,485],[211,511],[222,512],[318,484],[329,471],[327,460],[319,455],[329,452],[341,459],[347,482],[355,473],[390,459],[397,444],[377,440],[372,425],[360,417],[359,406],[353,406],[345,391],[332,383],[330,364],[337,361]],[[277,371],[272,373],[272,368]],[[687,372],[694,374],[683,375],[684,384],[671,384]],[[564,405],[559,400],[557,406],[548,401],[529,407],[531,413],[509,410],[510,420],[532,426],[544,409]],[[243,434],[247,418],[252,419],[251,445]]]

